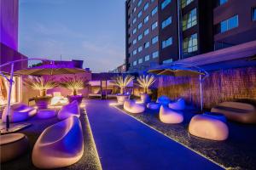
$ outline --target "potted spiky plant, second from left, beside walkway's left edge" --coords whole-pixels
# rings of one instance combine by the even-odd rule
[[[84,77],[63,77],[61,78],[60,85],[64,88],[72,90],[72,94],[67,96],[69,103],[73,100],[77,100],[79,104],[82,102],[83,95],[79,95],[80,89],[84,89],[88,86],[88,80]]]

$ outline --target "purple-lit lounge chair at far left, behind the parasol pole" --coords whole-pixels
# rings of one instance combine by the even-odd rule
[[[2,122],[6,122],[7,106],[3,110]],[[9,122],[23,122],[36,115],[37,110],[28,105],[18,103],[10,106]]]

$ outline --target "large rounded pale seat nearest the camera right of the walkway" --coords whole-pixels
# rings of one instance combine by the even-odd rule
[[[229,136],[229,127],[217,118],[202,114],[192,117],[189,133],[203,139],[225,140]]]

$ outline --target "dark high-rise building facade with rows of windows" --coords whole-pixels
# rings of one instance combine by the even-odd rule
[[[126,71],[143,71],[255,40],[256,2],[241,3],[240,0],[127,0]],[[221,22],[236,15],[239,26],[232,30],[230,21],[226,21],[229,28],[221,32],[224,31],[221,28],[225,29],[225,23]],[[241,36],[244,34],[247,37]]]

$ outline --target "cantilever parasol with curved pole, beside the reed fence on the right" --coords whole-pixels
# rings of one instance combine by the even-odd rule
[[[199,67],[193,66],[180,66],[182,63],[178,63],[176,65],[168,65],[161,67],[159,69],[149,70],[148,73],[162,75],[162,76],[172,76],[172,77],[193,77],[199,76],[200,80],[200,98],[201,98],[201,111],[203,109],[203,94],[202,94],[202,82],[204,78],[208,76],[207,71],[202,70]],[[192,68],[193,67],[193,68]],[[202,76],[204,76],[202,78]]]

